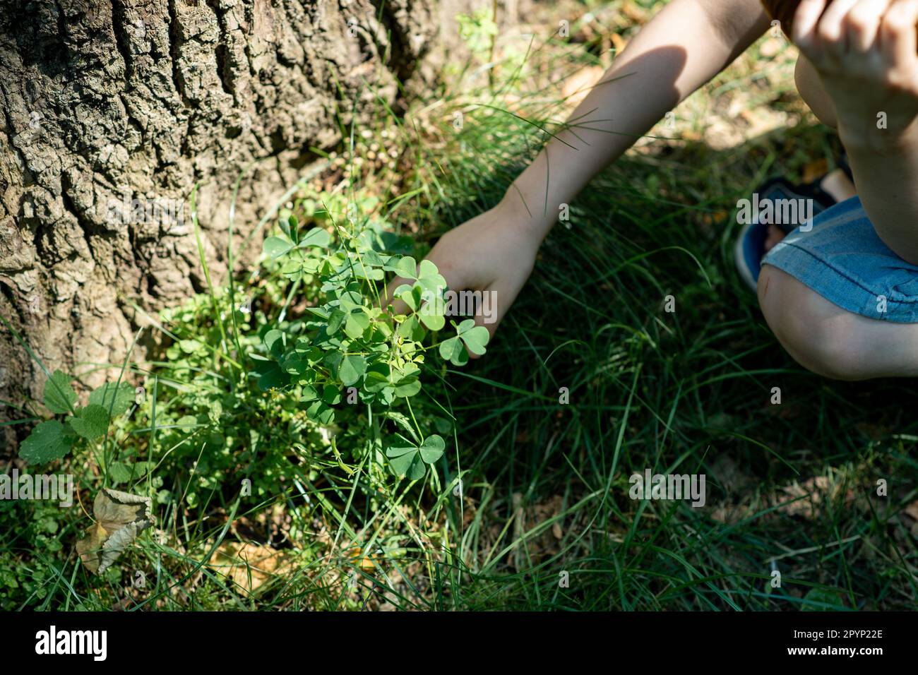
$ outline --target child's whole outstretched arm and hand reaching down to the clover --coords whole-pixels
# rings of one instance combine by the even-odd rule
[[[559,205],[767,27],[758,0],[674,0],[641,29],[603,84],[571,114],[573,131],[549,141],[497,207],[443,235],[428,257],[453,290],[493,291],[497,310],[496,321],[486,324],[490,332],[529,277]],[[405,311],[400,302],[395,309]]]

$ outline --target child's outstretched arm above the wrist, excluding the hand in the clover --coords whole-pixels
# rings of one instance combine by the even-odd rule
[[[510,186],[505,200],[525,212],[521,197],[525,199],[533,214],[527,225],[541,241],[557,218],[558,205],[570,202],[594,175],[733,62],[767,27],[758,0],[675,0],[667,5],[641,28],[573,112],[568,120],[573,129],[546,144]],[[551,178],[547,210],[546,171]]]

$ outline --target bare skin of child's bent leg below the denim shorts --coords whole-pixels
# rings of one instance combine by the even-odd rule
[[[823,377],[918,377],[918,323],[879,321],[842,309],[787,272],[765,265],[758,302],[800,366]]]

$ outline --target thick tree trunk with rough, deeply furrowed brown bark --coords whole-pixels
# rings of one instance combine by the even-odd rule
[[[0,0],[0,315],[51,368],[117,363],[130,302],[155,311],[204,286],[185,203],[196,183],[220,280],[241,168],[261,160],[238,200],[244,235],[315,159],[309,146],[340,140],[336,109],[346,119],[356,101],[369,117],[397,79],[429,80],[455,13],[480,4]],[[0,399],[42,382],[0,328]]]

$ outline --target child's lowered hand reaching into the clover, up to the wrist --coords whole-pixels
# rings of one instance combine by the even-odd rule
[[[525,217],[525,209],[520,209]],[[487,316],[479,309],[475,321],[493,336],[532,272],[540,239],[518,213],[501,203],[446,232],[427,259],[437,265],[450,290],[488,293]],[[386,300],[404,283],[405,279],[394,279],[386,288]],[[401,300],[395,300],[393,309],[398,314],[408,311]]]

